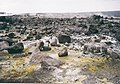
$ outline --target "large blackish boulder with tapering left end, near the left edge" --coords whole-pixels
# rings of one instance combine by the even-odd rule
[[[23,43],[17,43],[2,50],[7,50],[10,54],[21,53],[24,50]]]

